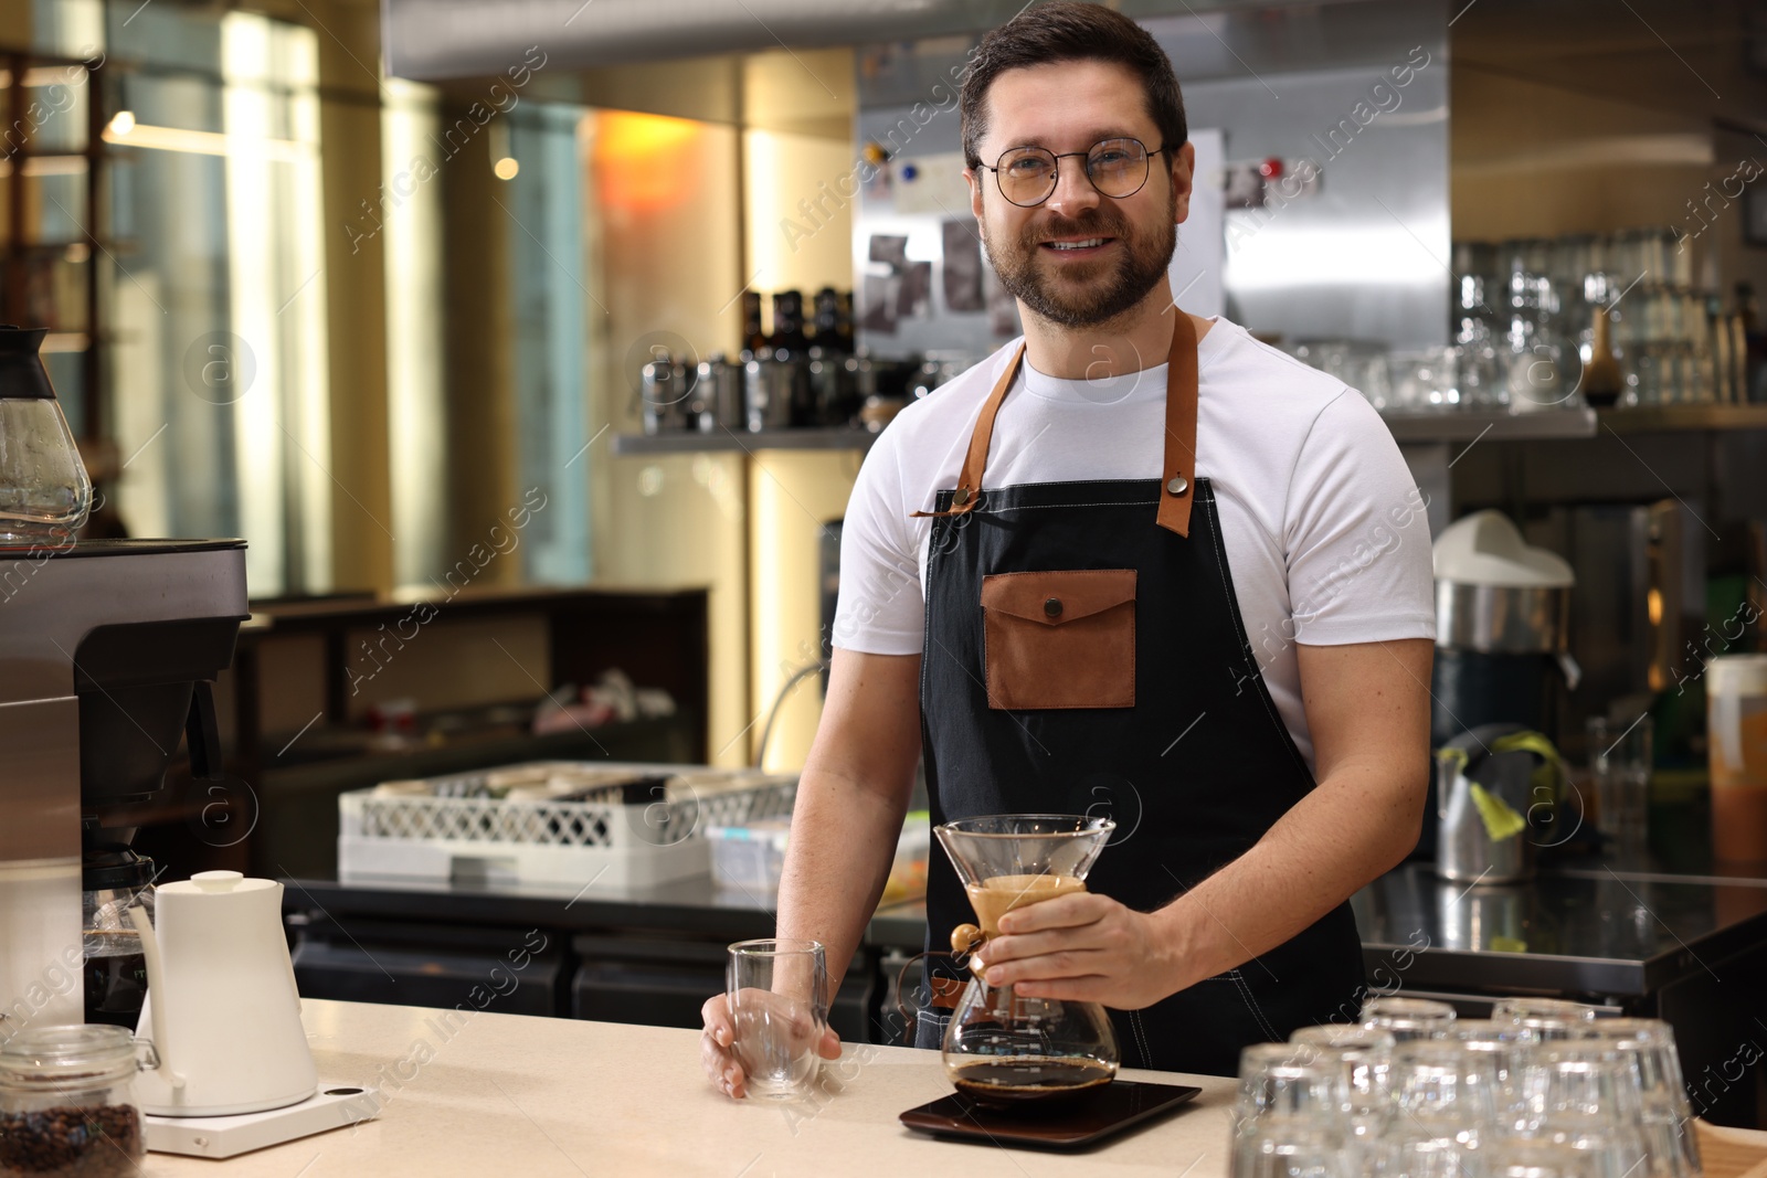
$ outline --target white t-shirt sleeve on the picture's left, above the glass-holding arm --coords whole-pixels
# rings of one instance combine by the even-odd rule
[[[926,599],[910,526],[899,429],[885,429],[859,466],[841,525],[841,590],[832,645],[871,655],[917,655]]]

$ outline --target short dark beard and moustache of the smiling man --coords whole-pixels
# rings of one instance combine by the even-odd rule
[[[1027,226],[998,249],[997,235],[988,233],[982,245],[1000,286],[1035,314],[1060,327],[1097,327],[1134,307],[1166,276],[1179,244],[1175,214],[1173,203],[1159,226],[1136,233],[1115,208],[1099,205],[1078,221],[1055,217]],[[1050,274],[1043,268],[1043,242],[1053,237],[1113,237],[1120,249],[1115,258],[1055,263],[1058,272]]]

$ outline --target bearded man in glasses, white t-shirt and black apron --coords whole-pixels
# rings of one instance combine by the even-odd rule
[[[1145,30],[1027,11],[977,49],[961,120],[1025,337],[859,473],[779,936],[839,978],[924,752],[935,823],[1117,819],[1088,894],[1000,922],[990,982],[1104,1003],[1126,1067],[1232,1076],[1357,1014],[1346,899],[1415,844],[1428,779],[1428,528],[1361,396],[1173,306],[1194,150]],[[935,850],[931,947],[970,918]],[[703,1014],[707,1074],[742,1095],[724,1000]]]

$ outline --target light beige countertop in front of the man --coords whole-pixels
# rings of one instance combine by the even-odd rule
[[[1124,1070],[1196,1084],[1177,1113],[1090,1152],[1002,1152],[908,1132],[903,1109],[951,1093],[938,1054],[848,1046],[802,1104],[730,1100],[700,1070],[698,1031],[306,1000],[323,1084],[373,1083],[375,1121],[224,1162],[150,1153],[148,1178],[599,1178],[666,1174],[998,1173],[1225,1178],[1233,1081]],[[977,1164],[988,1167],[975,1169]]]

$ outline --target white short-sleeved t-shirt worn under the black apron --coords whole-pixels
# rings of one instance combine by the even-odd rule
[[[1237,323],[1212,323],[1196,348],[1196,473],[1214,486],[1263,682],[1311,765],[1293,645],[1435,638],[1430,525],[1368,401]],[[931,510],[935,493],[956,486],[981,406],[1016,348],[908,404],[871,447],[841,532],[836,646],[921,653],[933,521],[908,512]],[[1159,479],[1164,412],[1164,364],[1076,381],[1027,359],[995,419],[982,486]]]

